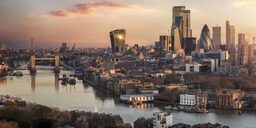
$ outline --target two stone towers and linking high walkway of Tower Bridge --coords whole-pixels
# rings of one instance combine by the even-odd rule
[[[54,58],[35,58],[35,53],[31,53],[31,68],[30,68],[30,73],[36,73],[36,68],[35,68],[35,60],[55,60],[55,68],[53,69],[54,73],[60,73],[60,67],[59,67],[59,53],[56,52],[54,55]]]

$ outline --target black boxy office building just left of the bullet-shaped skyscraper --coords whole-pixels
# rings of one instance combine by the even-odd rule
[[[195,37],[188,37],[185,38],[185,54],[191,54],[192,51],[196,49],[196,38]]]

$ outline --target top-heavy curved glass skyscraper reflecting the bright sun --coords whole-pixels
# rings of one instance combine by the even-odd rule
[[[112,53],[125,52],[125,29],[117,29],[109,32]]]

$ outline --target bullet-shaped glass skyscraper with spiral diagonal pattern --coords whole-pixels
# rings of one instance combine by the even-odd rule
[[[204,25],[202,29],[200,36],[200,44],[200,47],[203,48],[205,52],[211,49],[211,33],[207,25]]]

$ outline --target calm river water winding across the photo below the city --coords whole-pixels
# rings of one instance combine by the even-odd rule
[[[36,75],[30,75],[28,70],[22,71],[22,77],[6,76],[0,78],[0,95],[11,95],[25,98],[46,106],[59,107],[62,110],[80,110],[99,113],[119,114],[125,123],[131,123],[139,118],[151,118],[153,112],[164,112],[167,105],[147,103],[142,106],[132,106],[117,102],[117,96],[107,94],[77,80],[76,85],[61,85],[58,80],[63,74],[74,71],[61,70],[54,74],[53,70],[37,70]],[[219,123],[230,128],[256,127],[255,111],[229,109],[209,109],[210,113],[197,114],[183,111],[173,111],[173,124]]]

